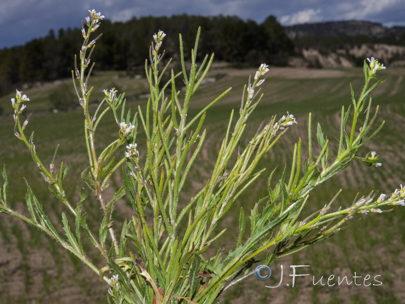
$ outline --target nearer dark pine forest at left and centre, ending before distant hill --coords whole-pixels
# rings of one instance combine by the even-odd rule
[[[179,33],[186,50],[194,45],[201,26],[198,54],[215,53],[216,60],[238,65],[286,65],[294,54],[294,44],[276,18],[269,16],[260,24],[234,16],[142,17],[127,22],[103,20],[103,36],[97,41],[92,62],[98,70],[142,71],[148,57],[153,33],[167,33],[166,58],[178,59]],[[96,35],[95,35],[96,36]],[[79,28],[50,30],[46,37],[32,40],[24,46],[0,50],[0,95],[15,84],[33,84],[68,78],[83,38]],[[186,53],[188,54],[188,52]]]

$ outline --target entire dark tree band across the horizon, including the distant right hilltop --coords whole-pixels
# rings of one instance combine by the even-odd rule
[[[194,45],[197,28],[201,26],[198,55],[215,53],[217,61],[234,66],[287,65],[291,56],[301,56],[301,50],[315,48],[321,53],[350,48],[361,44],[384,43],[405,46],[405,27],[384,28],[370,22],[326,22],[301,24],[284,28],[274,16],[262,23],[242,20],[236,16],[189,16],[132,18],[127,22],[103,20],[98,32],[92,62],[97,70],[126,70],[129,74],[142,74],[153,33],[159,29],[167,36],[164,49],[166,58],[179,61],[179,33],[185,50]],[[370,31],[380,29],[380,35]],[[97,33],[97,32],[96,32]],[[289,38],[294,36],[294,39]],[[335,34],[334,34],[335,33]],[[95,37],[96,35],[94,35]],[[83,38],[79,28],[50,30],[48,35],[34,39],[24,46],[0,50],[0,96],[22,84],[69,78],[74,54],[78,55]],[[189,52],[185,52],[187,56]],[[352,56],[353,57],[353,56]],[[355,65],[362,58],[348,59]],[[395,58],[394,58],[395,59]],[[1,113],[1,107],[0,107]]]

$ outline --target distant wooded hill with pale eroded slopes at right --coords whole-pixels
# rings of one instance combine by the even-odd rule
[[[298,54],[290,58],[291,66],[354,67],[367,57],[390,67],[405,66],[405,26],[331,21],[286,26],[285,31]]]

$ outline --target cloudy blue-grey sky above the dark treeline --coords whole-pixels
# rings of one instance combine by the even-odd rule
[[[331,20],[405,25],[405,0],[0,0],[0,48],[24,44],[51,28],[78,27],[91,9],[112,21],[187,13],[257,22],[274,15],[284,25]]]

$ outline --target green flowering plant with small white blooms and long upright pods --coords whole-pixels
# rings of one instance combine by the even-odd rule
[[[30,137],[25,135],[24,130],[30,116],[21,124],[20,115],[29,98],[19,91],[11,100],[15,109],[15,135],[27,146],[39,173],[49,184],[51,193],[66,207],[74,220],[70,221],[64,212],[61,214],[62,235],[29,186],[26,194],[29,215],[13,210],[7,201],[6,169],[3,171],[3,190],[0,191],[0,213],[18,217],[34,225],[82,260],[108,285],[108,302],[213,303],[220,293],[253,274],[252,267],[258,261],[259,254],[263,255],[265,264],[271,264],[275,258],[295,253],[336,235],[347,221],[358,214],[382,213],[387,211],[385,207],[388,205],[405,205],[405,187],[401,185],[391,194],[377,197],[370,193],[356,198],[348,208],[331,212],[338,193],[321,210],[304,219],[300,217],[306,210],[305,204],[313,189],[346,169],[353,160],[381,166],[375,151],[367,153],[365,157],[359,155],[360,148],[384,125],[383,122],[373,128],[378,106],[374,115],[371,115],[372,98],[369,96],[383,82],[376,78],[376,73],[385,67],[372,57],[368,58],[369,63],[366,60],[364,62],[365,86],[360,96],[356,99],[351,90],[352,104],[347,108],[342,106],[337,149],[331,147],[320,124],[317,124],[319,153],[313,152],[312,120],[309,114],[308,158],[303,160],[302,143],[299,140],[294,146],[291,168],[285,167],[274,186],[270,184],[274,171],[270,174],[268,195],[250,210],[250,233],[246,229],[246,211],[241,208],[239,234],[234,249],[225,252],[222,247],[215,248],[215,241],[226,230],[218,233],[217,226],[226,218],[240,194],[249,189],[264,172],[265,169],[257,169],[259,160],[290,127],[296,127],[294,125],[297,121],[289,112],[280,119],[273,116],[262,124],[245,147],[240,143],[244,138],[246,122],[263,97],[259,95],[259,87],[263,85],[264,75],[269,68],[262,64],[254,78],[249,78],[239,112],[230,113],[211,178],[186,204],[181,204],[181,192],[207,136],[203,129],[207,110],[231,88],[194,117],[187,118],[190,100],[206,77],[214,57],[207,55],[197,67],[198,30],[191,51],[190,68],[186,68],[180,35],[182,71],[178,74],[173,70],[169,71],[171,60],[159,71],[164,56],[164,52],[159,51],[166,36],[159,30],[153,35],[149,61],[145,62],[150,88],[146,109],[139,107],[136,115],[131,116],[131,112],[125,107],[124,93],[118,94],[112,88],[103,91],[105,97],[92,113],[89,102],[93,88],[88,88],[88,81],[94,63],[90,66],[90,57],[101,35],[94,40],[90,36],[98,29],[103,18],[101,13],[93,10],[90,11],[90,17],[86,18],[87,30],[82,23],[84,42],[79,52],[79,63],[77,64],[76,58],[72,71],[78,103],[84,110],[84,132],[89,160],[89,167],[83,171],[82,179],[96,195],[102,209],[99,232],[96,234],[90,230],[86,214],[82,212],[82,207],[86,204],[86,193],[80,192],[77,202],[70,202],[66,197],[63,179],[68,173],[69,165],[65,168],[62,163],[55,172],[54,156],[48,169],[35,150],[33,133]],[[170,80],[162,83],[163,75],[168,72],[171,75]],[[186,86],[184,98],[180,98],[182,95],[176,84],[179,79]],[[117,139],[98,154],[97,126],[109,111],[117,124]],[[359,127],[360,119],[363,123]],[[139,120],[146,136],[146,146],[139,147],[141,154],[136,143]],[[123,145],[126,145],[127,150],[120,155],[119,147]],[[235,154],[237,156],[232,157]],[[332,155],[335,156],[332,158]],[[115,164],[116,158],[118,162]],[[104,191],[109,186],[110,176],[120,168],[124,171],[123,185],[106,201]],[[124,196],[131,201],[133,214],[124,222],[117,222],[112,213],[117,202]],[[121,231],[119,236],[116,229]],[[83,247],[85,237],[104,258],[104,267],[98,268],[88,257]],[[214,256],[209,257],[207,250],[215,252]]]

